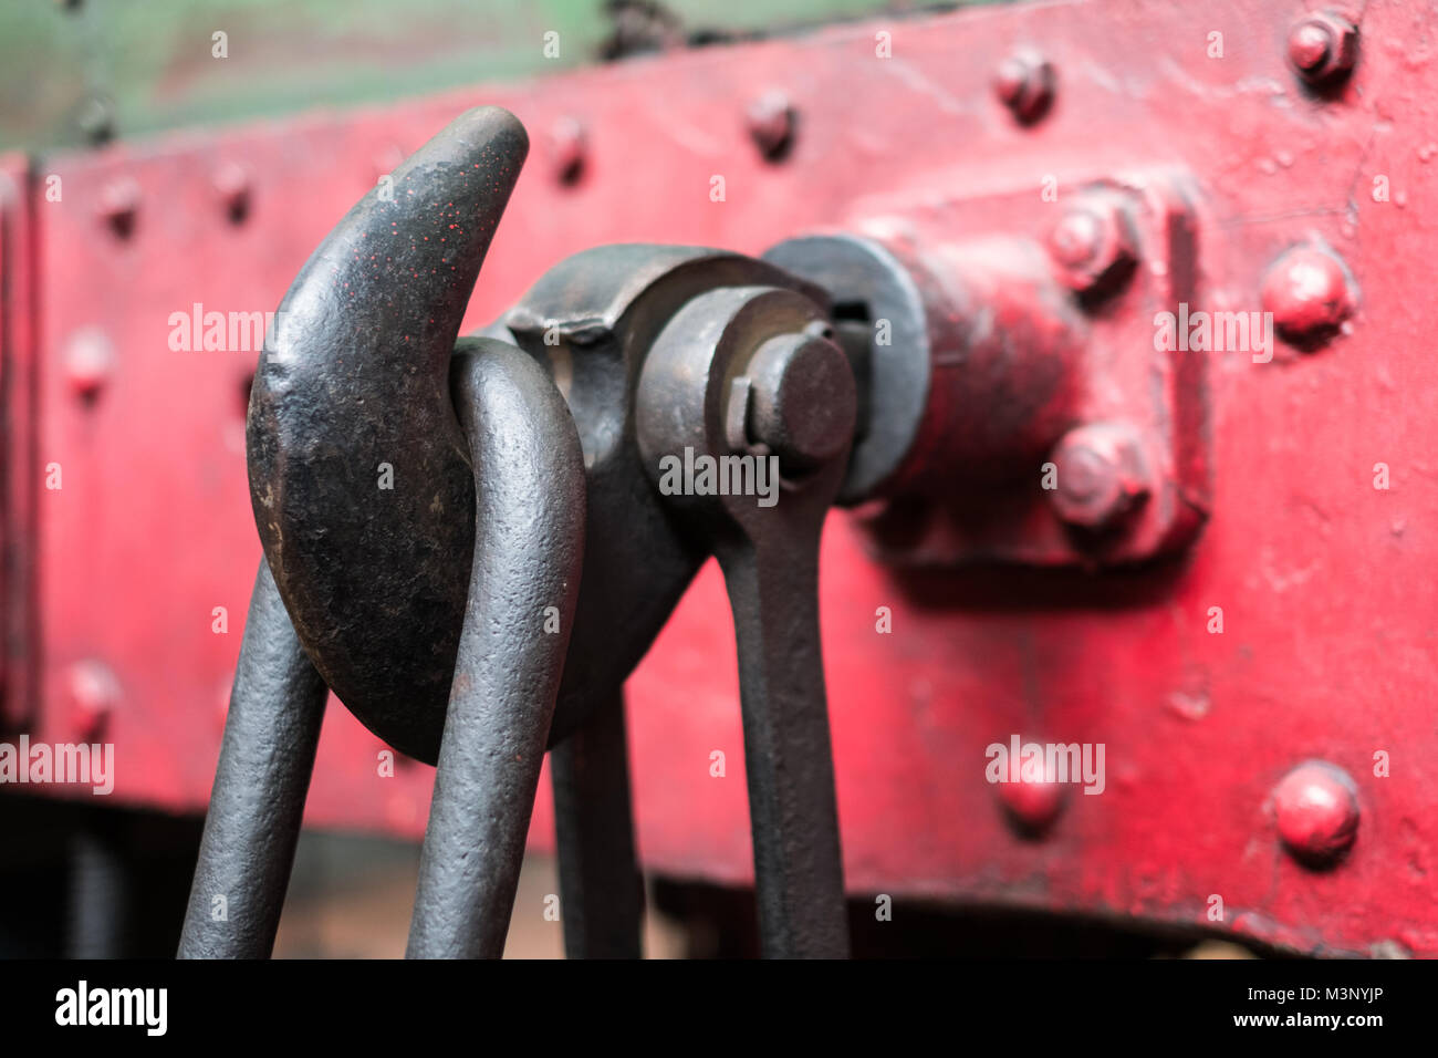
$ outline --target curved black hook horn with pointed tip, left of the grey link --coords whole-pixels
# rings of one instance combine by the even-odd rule
[[[315,250],[250,396],[250,499],[325,682],[434,763],[475,538],[449,371],[529,137],[499,108],[447,124]]]

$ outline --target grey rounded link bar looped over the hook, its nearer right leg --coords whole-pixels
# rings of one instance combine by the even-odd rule
[[[584,458],[549,376],[492,338],[454,350],[475,557],[407,954],[503,954],[584,564]]]

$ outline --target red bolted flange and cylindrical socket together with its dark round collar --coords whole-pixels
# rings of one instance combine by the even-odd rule
[[[1195,299],[1192,196],[1175,167],[1084,181],[1054,210],[1017,184],[766,250],[873,335],[840,495],[890,501],[861,514],[877,556],[1112,566],[1192,543],[1211,491],[1208,366],[1153,338],[1159,312]],[[1130,517],[1099,525],[1053,498],[1077,476],[1067,435],[1104,423],[1133,435],[1152,479]]]

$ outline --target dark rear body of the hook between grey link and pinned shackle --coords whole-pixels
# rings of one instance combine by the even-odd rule
[[[823,294],[772,265],[697,246],[598,246],[561,261],[489,330],[546,364],[584,445],[590,520],[552,741],[608,700],[707,556],[654,491],[633,392],[660,330],[696,295],[749,284]],[[641,570],[643,574],[637,574]]]

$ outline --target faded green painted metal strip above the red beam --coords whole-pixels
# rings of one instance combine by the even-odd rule
[[[933,6],[670,0],[664,9],[684,35],[754,36]],[[6,0],[0,150],[82,144],[102,125],[129,137],[538,76],[594,62],[614,29],[608,7],[607,0]],[[216,33],[226,35],[224,58]]]

